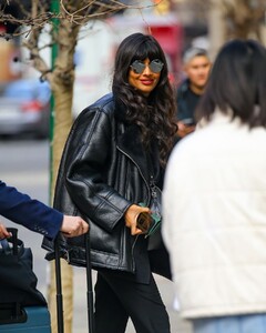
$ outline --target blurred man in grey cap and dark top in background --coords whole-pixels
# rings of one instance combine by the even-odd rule
[[[195,130],[195,109],[207,83],[211,60],[207,51],[192,47],[183,57],[186,78],[177,89],[178,140]]]

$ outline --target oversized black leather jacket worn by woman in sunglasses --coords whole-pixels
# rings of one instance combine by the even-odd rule
[[[54,206],[89,222],[93,268],[135,271],[133,253],[146,240],[131,235],[124,213],[133,203],[150,203],[145,161],[139,128],[126,123],[125,109],[112,94],[75,120],[61,160]],[[62,248],[71,264],[85,265],[84,236],[63,240]]]

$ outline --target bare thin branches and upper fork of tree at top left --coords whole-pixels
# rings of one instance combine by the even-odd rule
[[[11,2],[18,6],[19,16],[12,16],[8,11],[8,6]],[[52,12],[49,1],[31,0],[30,10],[23,1],[4,1],[0,7],[0,23],[9,22],[14,24],[17,29],[12,34],[2,32],[0,37],[7,40],[24,37],[23,46],[30,50],[32,65],[40,71],[42,79],[48,79],[52,82],[55,75],[51,75],[52,69],[41,58],[41,49],[38,44],[44,27],[50,27],[51,41],[48,47],[57,43],[60,50],[60,61],[55,63],[55,71],[61,70],[61,72],[57,73],[57,80],[61,78],[61,80],[64,80],[63,84],[66,84],[69,82],[68,78],[73,75],[73,60],[71,59],[71,63],[66,63],[63,59],[64,56],[74,52],[73,49],[76,44],[80,28],[90,20],[106,18],[116,11],[129,8],[139,10],[146,8],[137,4],[139,2],[141,1],[135,1],[135,6],[129,6],[117,0],[60,0],[59,12]],[[58,29],[54,29],[54,22],[57,22]]]

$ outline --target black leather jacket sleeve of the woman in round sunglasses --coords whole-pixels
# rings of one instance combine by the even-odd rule
[[[72,201],[109,232],[132,204],[110,186],[106,179],[108,165],[114,153],[112,121],[112,117],[102,109],[81,113],[72,128],[65,152],[65,182]],[[68,162],[69,159],[72,161]]]

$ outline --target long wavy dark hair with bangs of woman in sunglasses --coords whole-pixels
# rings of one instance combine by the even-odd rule
[[[158,83],[149,98],[129,83],[131,63],[147,58],[164,63]],[[140,127],[144,147],[149,149],[152,141],[157,141],[160,162],[165,167],[176,133],[176,107],[164,52],[152,36],[133,33],[122,41],[115,57],[112,90],[126,108],[126,121]]]

